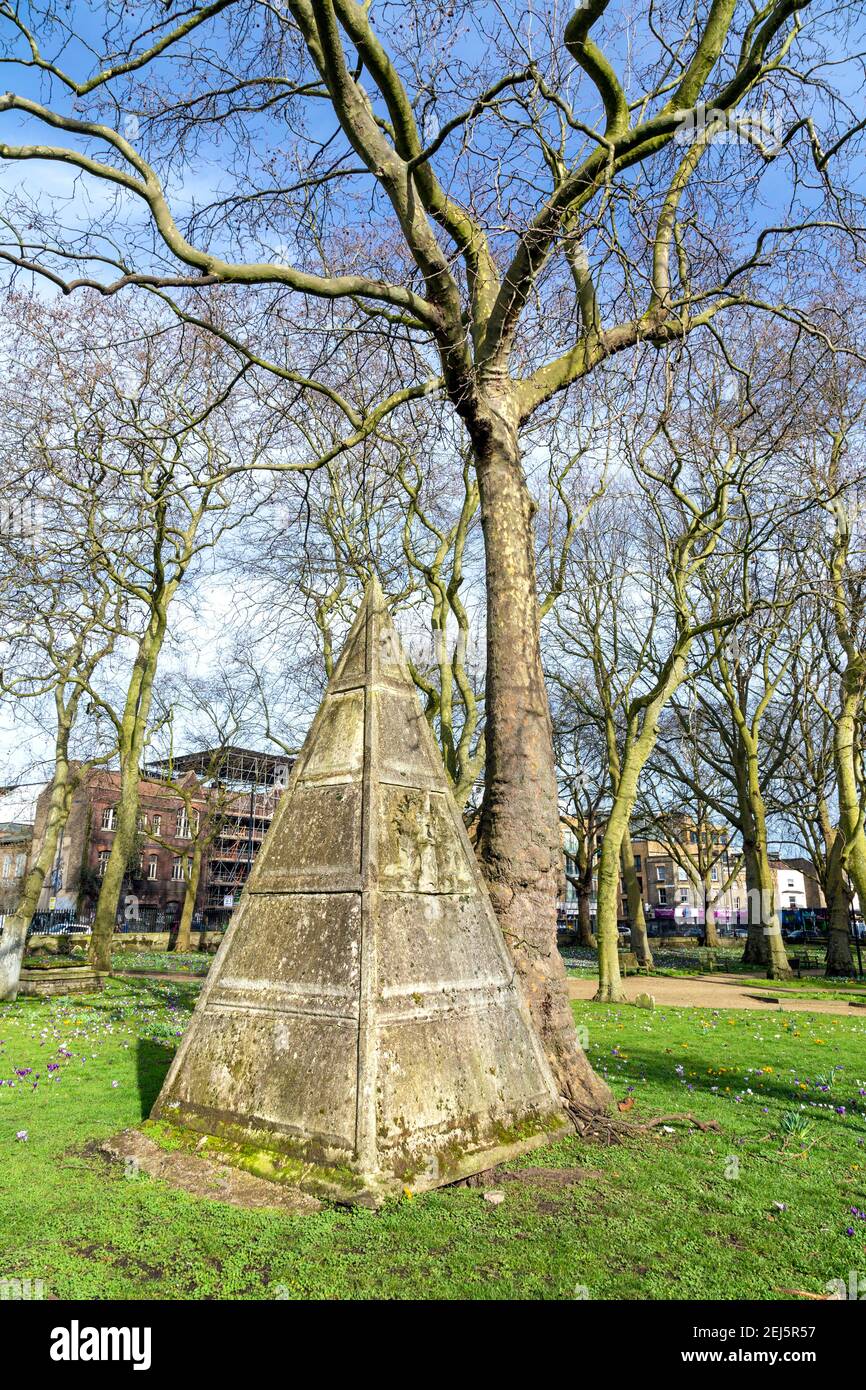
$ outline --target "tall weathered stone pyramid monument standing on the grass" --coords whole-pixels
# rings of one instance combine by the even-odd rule
[[[153,1115],[368,1204],[566,1123],[377,581]]]

